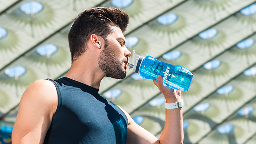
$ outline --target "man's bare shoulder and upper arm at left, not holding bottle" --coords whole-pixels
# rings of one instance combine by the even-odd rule
[[[57,109],[58,95],[49,80],[37,80],[23,93],[12,131],[12,144],[42,144]]]

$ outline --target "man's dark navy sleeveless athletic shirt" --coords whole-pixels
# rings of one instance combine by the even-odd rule
[[[44,144],[126,144],[127,117],[98,89],[67,77],[48,80],[59,102]]]

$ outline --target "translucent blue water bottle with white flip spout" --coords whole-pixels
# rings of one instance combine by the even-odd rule
[[[133,50],[134,65],[127,64],[133,68],[133,72],[139,73],[142,78],[157,80],[157,75],[163,77],[163,83],[167,86],[181,91],[187,91],[194,73],[179,65],[167,64],[151,56],[138,56]]]

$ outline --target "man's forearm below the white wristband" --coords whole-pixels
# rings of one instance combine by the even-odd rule
[[[184,139],[182,107],[166,109],[165,127],[159,138],[161,144],[182,144]]]

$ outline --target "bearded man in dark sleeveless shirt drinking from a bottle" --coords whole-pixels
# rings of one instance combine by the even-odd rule
[[[22,95],[12,144],[181,144],[182,108],[166,109],[166,123],[157,139],[137,125],[121,107],[98,94],[103,77],[123,79],[128,57],[123,32],[128,15],[117,8],[81,12],[68,34],[72,65],[59,80],[37,80]],[[181,92],[154,84],[167,103]]]

